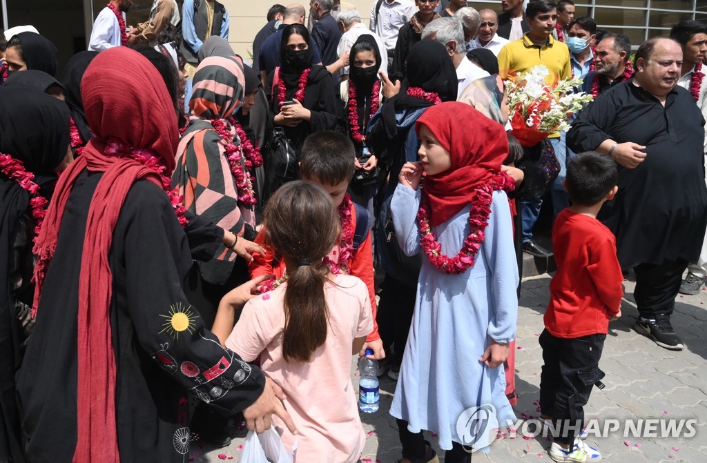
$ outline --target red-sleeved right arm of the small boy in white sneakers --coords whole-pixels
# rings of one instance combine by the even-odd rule
[[[621,273],[616,248],[612,242],[606,241],[590,249],[589,260],[589,276],[602,303],[607,307],[609,317],[614,317],[621,312],[621,298],[624,297],[624,275]]]

